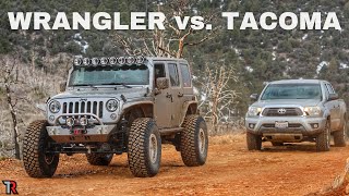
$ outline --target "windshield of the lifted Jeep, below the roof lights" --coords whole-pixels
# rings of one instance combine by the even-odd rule
[[[148,85],[149,70],[146,65],[74,66],[69,86],[98,85]]]

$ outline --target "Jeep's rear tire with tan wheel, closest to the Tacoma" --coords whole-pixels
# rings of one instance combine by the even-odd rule
[[[186,115],[180,134],[180,151],[185,166],[197,167],[206,162],[208,134],[205,120],[200,115]]]

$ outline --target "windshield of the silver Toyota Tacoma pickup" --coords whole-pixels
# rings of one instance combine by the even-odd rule
[[[270,84],[261,100],[270,99],[322,99],[320,84]]]

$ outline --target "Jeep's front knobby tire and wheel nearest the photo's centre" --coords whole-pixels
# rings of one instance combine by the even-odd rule
[[[128,143],[129,167],[136,177],[151,177],[158,173],[161,162],[161,137],[153,119],[133,121]]]

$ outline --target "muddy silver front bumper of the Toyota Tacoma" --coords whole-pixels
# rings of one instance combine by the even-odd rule
[[[246,118],[245,127],[249,133],[256,135],[300,135],[314,136],[326,125],[326,118],[306,117],[256,117]],[[288,127],[277,128],[276,122],[287,122]]]

